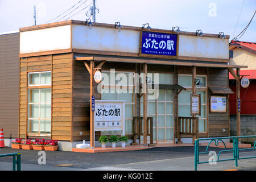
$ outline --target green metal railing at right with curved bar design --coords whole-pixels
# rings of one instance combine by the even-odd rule
[[[222,162],[222,161],[228,161],[228,160],[234,160],[236,167],[238,167],[238,160],[240,159],[251,159],[251,158],[256,158],[256,156],[249,156],[249,157],[244,157],[241,158],[239,151],[243,151],[243,150],[252,150],[252,149],[256,149],[256,140],[254,142],[254,146],[250,147],[250,148],[239,148],[239,142],[238,139],[239,138],[251,138],[251,137],[256,137],[256,135],[250,135],[250,136],[241,136],[241,137],[218,137],[218,138],[204,138],[204,139],[195,139],[195,171],[197,171],[197,164],[204,164],[204,163],[209,163],[209,161],[203,161],[200,162],[199,161],[199,155],[200,154],[209,154],[208,148],[210,146],[210,143],[214,142],[216,146],[218,146],[218,143],[221,142],[224,144],[224,148],[225,150],[221,150],[220,152],[218,152],[218,157],[214,162]],[[233,147],[232,150],[227,150],[226,148],[226,144],[223,141],[223,139],[232,139],[233,140]],[[199,152],[199,141],[203,141],[203,140],[210,140],[210,142],[207,145],[207,148],[205,150],[205,152]],[[229,159],[220,159],[220,154],[223,152],[233,152],[233,157],[229,158]]]

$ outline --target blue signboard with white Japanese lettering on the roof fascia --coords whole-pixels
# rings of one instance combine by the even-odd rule
[[[141,32],[141,55],[177,56],[177,34]]]

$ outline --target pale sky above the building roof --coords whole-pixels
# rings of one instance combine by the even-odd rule
[[[20,27],[74,19],[85,15],[92,0],[0,0],[0,32],[18,31]],[[74,6],[75,5],[75,6]],[[230,40],[247,26],[256,10],[255,0],[96,0],[96,22],[121,22],[126,26],[218,34],[224,32]],[[69,10],[70,9],[70,10]],[[84,9],[84,10],[82,10]],[[239,39],[256,42],[256,15]]]

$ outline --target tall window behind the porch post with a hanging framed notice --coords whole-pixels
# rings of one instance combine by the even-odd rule
[[[199,117],[199,132],[207,132],[207,77],[196,75],[201,85],[196,85],[196,93],[201,94],[201,115]],[[187,88],[179,94],[179,116],[191,117],[191,93],[192,93],[192,75],[179,75],[179,85]]]

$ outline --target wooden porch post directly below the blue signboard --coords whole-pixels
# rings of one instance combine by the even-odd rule
[[[143,145],[147,145],[147,64],[143,64]]]

